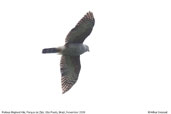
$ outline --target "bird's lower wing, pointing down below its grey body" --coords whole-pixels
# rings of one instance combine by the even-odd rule
[[[80,56],[61,57],[62,91],[67,92],[76,83],[81,69]]]

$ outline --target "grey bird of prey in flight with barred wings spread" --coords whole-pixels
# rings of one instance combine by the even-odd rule
[[[92,12],[86,13],[77,25],[68,33],[65,45],[57,48],[45,48],[42,53],[59,53],[62,55],[60,61],[61,85],[64,94],[76,83],[81,69],[80,55],[89,51],[89,47],[83,44],[90,35],[95,19]]]

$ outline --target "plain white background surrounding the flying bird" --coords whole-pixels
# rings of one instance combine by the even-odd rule
[[[77,83],[61,91],[60,55],[88,12],[96,20],[84,42]],[[1,0],[0,110],[147,114],[171,111],[170,0]]]

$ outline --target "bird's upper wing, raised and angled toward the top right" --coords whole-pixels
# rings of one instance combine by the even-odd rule
[[[91,33],[95,19],[92,12],[88,12],[77,25],[68,33],[65,43],[83,43]]]

